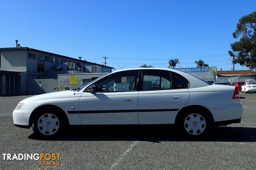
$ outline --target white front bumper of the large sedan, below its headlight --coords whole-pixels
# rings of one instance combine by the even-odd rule
[[[14,110],[12,112],[12,118],[14,124],[22,125],[22,126],[29,126],[29,117],[32,113],[32,110]]]

